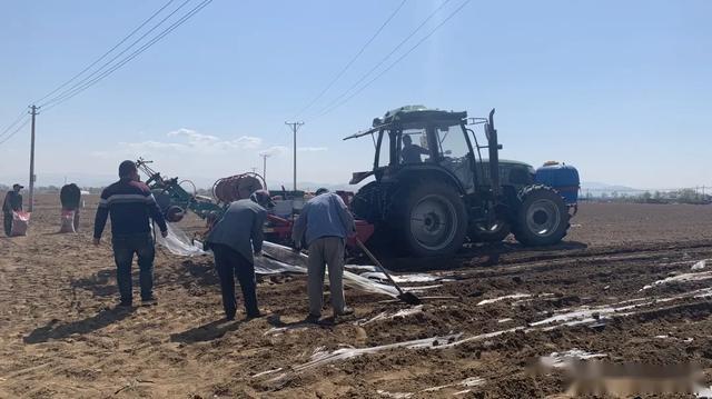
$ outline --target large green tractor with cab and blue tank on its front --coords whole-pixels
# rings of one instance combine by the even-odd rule
[[[473,128],[484,127],[486,142]],[[488,118],[422,106],[402,107],[344,140],[372,136],[373,170],[352,201],[354,213],[376,227],[375,240],[416,257],[448,256],[473,242],[514,233],[525,246],[548,246],[568,230],[577,201],[578,173],[570,166],[534,170],[500,160],[502,146]],[[488,158],[483,158],[486,150]]]

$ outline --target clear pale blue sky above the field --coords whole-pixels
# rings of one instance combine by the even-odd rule
[[[182,0],[181,0],[182,1]],[[181,1],[175,1],[177,7]],[[166,1],[2,1],[0,126],[113,46]],[[712,2],[471,1],[344,106],[315,118],[442,0],[408,0],[312,110],[298,116],[299,180],[366,170],[373,144],[340,139],[403,104],[497,109],[502,157],[575,164],[587,181],[712,184]],[[451,0],[385,66],[463,0]],[[187,6],[186,10],[198,0]],[[290,181],[284,121],[319,93],[400,0],[227,1],[38,117],[37,174],[112,178],[122,159],[209,181],[261,169]],[[1,140],[1,138],[0,138]],[[0,182],[27,181],[29,127],[0,144]]]

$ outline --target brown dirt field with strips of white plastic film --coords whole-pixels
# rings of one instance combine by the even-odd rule
[[[261,279],[269,317],[220,322],[211,258],[165,251],[159,305],[113,310],[91,201],[79,235],[55,233],[55,201],[0,239],[2,398],[562,397],[562,369],[527,365],[574,349],[712,371],[712,207],[583,205],[557,248],[469,248],[425,268],[452,281],[422,307],[349,289],[355,318],[305,327],[303,276]]]

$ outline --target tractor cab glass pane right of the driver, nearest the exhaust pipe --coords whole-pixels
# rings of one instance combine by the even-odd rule
[[[449,170],[467,192],[474,191],[469,146],[465,132],[459,126],[436,128],[441,166]]]

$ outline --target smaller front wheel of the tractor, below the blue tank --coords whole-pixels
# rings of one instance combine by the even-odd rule
[[[568,230],[568,209],[564,199],[546,186],[531,186],[520,193],[514,237],[525,246],[551,246]]]

